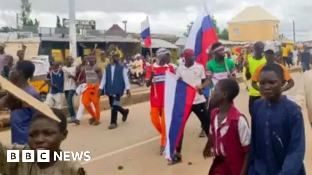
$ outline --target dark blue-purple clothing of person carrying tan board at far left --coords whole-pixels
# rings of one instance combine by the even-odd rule
[[[40,99],[40,96],[34,87],[27,85],[23,90],[32,97],[35,97],[38,100]],[[22,107],[11,111],[10,121],[12,144],[28,143],[29,123],[35,112],[36,111],[30,107]]]

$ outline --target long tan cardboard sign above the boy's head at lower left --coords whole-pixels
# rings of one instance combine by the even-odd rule
[[[27,92],[18,88],[17,86],[15,86],[10,81],[3,78],[2,76],[0,76],[0,83],[1,83],[2,89],[6,90],[8,93],[12,94],[14,97],[18,98],[22,102],[26,102],[28,105],[40,111],[42,114],[45,114],[47,117],[50,117],[51,119],[55,121],[61,122],[61,120],[57,118],[57,116],[54,114],[54,112],[51,110],[51,108],[48,105],[32,97]]]

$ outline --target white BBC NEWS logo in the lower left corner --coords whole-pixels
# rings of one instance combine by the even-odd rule
[[[61,151],[54,152],[54,161],[90,161],[90,151],[74,152],[74,151]],[[7,162],[20,162],[20,150],[7,150]],[[22,162],[35,162],[35,150],[22,150]],[[49,150],[37,150],[37,162],[50,162]]]

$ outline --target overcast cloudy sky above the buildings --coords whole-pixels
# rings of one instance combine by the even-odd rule
[[[55,27],[56,15],[68,17],[67,0],[29,0],[32,17],[40,26]],[[76,0],[76,18],[95,20],[97,29],[108,29],[112,24],[122,26],[127,20],[128,32],[139,32],[140,22],[150,17],[152,33],[170,33],[181,36],[186,25],[196,19],[204,0]],[[207,0],[215,1],[215,0]],[[311,0],[217,0],[213,14],[218,26],[227,27],[227,21],[248,6],[261,5],[280,19],[280,33],[292,39],[292,20],[296,23],[297,40],[312,40]],[[16,26],[16,12],[20,0],[0,0],[0,27]]]

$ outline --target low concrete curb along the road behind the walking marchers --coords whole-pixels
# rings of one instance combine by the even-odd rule
[[[301,67],[295,67],[295,68],[291,68],[288,70],[289,70],[289,73],[295,73],[295,72],[301,72],[302,69],[301,69]],[[237,79],[238,83],[244,82],[244,78],[243,78],[242,74],[238,74],[236,79]],[[142,102],[148,102],[149,101],[149,95],[150,95],[150,89],[149,88],[146,88],[146,90],[140,90],[140,91],[133,92],[131,94],[130,98],[128,98],[124,95],[121,98],[121,106],[129,106],[129,105],[134,105],[134,104],[138,104],[138,103],[142,103]],[[78,106],[79,106],[79,100],[80,100],[80,96],[76,96],[74,99],[74,106],[75,106],[76,110],[78,109]],[[66,104],[66,102],[63,104]],[[108,97],[101,97],[101,99],[100,99],[100,110],[103,111],[103,110],[108,110],[108,109],[110,109],[110,103],[109,103]],[[63,107],[63,111],[67,116],[70,116],[67,106]],[[86,112],[87,111],[85,111],[85,113]],[[0,118],[9,118],[9,114],[4,115]],[[3,130],[5,130],[5,129],[3,129]],[[0,130],[0,131],[2,131],[2,130]]]

